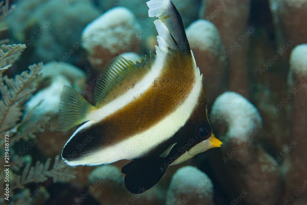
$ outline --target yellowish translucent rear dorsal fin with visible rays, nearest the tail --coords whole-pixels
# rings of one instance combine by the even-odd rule
[[[121,56],[111,59],[99,74],[94,91],[94,105],[104,103],[111,93],[115,92],[114,95],[118,95],[123,89],[129,89],[129,85],[133,85],[150,70],[154,59],[155,55],[152,52],[150,57],[145,55],[145,59],[141,59],[140,63],[133,63]],[[124,83],[127,85],[123,86]]]

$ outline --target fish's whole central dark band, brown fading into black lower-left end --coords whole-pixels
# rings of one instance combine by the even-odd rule
[[[175,54],[172,54],[174,56]],[[92,137],[91,142],[73,158],[90,153],[91,150],[114,145],[133,135],[146,131],[161,119],[172,113],[185,100],[192,91],[195,83],[193,61],[190,57],[176,53],[175,57],[166,57],[161,75],[153,82],[141,97],[107,116],[104,120],[80,130],[65,146],[62,156],[76,150],[76,146],[86,136]],[[182,67],[185,66],[185,67]],[[165,85],[168,84],[168,85]],[[187,113],[189,115],[190,113]],[[154,136],[148,136],[154,137]],[[91,150],[88,150],[91,149]]]

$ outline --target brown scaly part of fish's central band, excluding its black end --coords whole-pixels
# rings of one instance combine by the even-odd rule
[[[116,142],[145,131],[181,105],[194,85],[192,60],[179,54],[165,65],[168,67],[141,97],[99,123],[103,141]]]

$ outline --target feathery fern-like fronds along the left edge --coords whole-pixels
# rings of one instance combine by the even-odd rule
[[[1,21],[10,13],[11,10],[9,8],[13,8],[9,6],[9,1],[0,2]],[[2,40],[1,42],[4,41]],[[31,162],[29,161],[32,160],[32,157],[21,157],[22,155],[18,156],[16,154],[21,145],[19,141],[21,139],[24,142],[29,139],[35,139],[37,132],[41,131],[49,119],[48,116],[43,116],[37,121],[29,121],[29,116],[32,114],[33,109],[26,115],[23,112],[25,102],[37,90],[36,83],[41,78],[42,63],[29,66],[29,71],[23,71],[19,75],[16,74],[14,78],[9,78],[8,75],[2,76],[2,73],[7,71],[17,61],[24,49],[24,44],[8,44],[2,45],[0,48],[0,134],[4,136],[0,140],[0,153],[2,153],[0,165],[6,168],[0,171],[0,192],[2,196],[6,193],[5,187],[7,187],[4,181],[10,183],[10,200],[5,200],[4,197],[1,197],[1,204],[26,203],[30,198],[30,190],[25,186],[30,183],[45,182],[48,177],[52,177],[54,182],[67,182],[75,177],[75,173],[72,171],[73,168],[61,161],[59,156],[54,159],[53,167],[49,169],[51,159],[47,159],[45,164],[36,161],[35,166],[30,167]],[[37,102],[33,108],[39,105],[39,103]],[[33,142],[33,144],[35,143]],[[10,163],[10,166],[4,166],[8,165],[8,163]],[[24,164],[26,165],[24,166]],[[23,166],[24,169],[21,172]],[[19,175],[18,173],[22,174]],[[9,181],[5,180],[4,177],[9,179]],[[24,189],[21,190],[21,188]],[[49,197],[46,189],[42,189],[45,191],[36,193],[38,195],[37,199],[40,199],[40,202],[46,201]],[[32,202],[34,204],[35,200]],[[39,202],[36,201],[36,203]]]

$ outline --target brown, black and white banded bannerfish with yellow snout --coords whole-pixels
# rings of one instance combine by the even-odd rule
[[[169,165],[222,144],[212,133],[203,76],[180,14],[170,0],[147,5],[149,16],[158,17],[156,54],[140,63],[109,61],[95,85],[94,105],[68,86],[59,104],[58,130],[85,122],[66,142],[64,161],[75,166],[133,160],[122,168],[132,193],[153,187]]]

